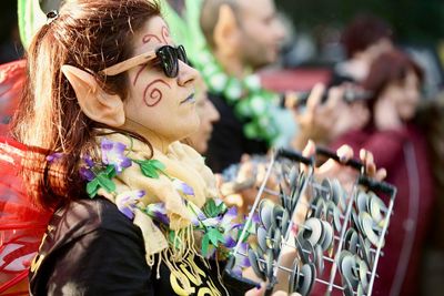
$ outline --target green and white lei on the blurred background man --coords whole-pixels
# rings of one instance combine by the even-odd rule
[[[283,126],[276,121],[279,95],[262,89],[258,75],[251,74],[243,80],[229,76],[208,49],[198,59],[196,67],[210,92],[222,93],[226,102],[234,105],[238,119],[245,122],[244,135],[273,145],[283,132]]]

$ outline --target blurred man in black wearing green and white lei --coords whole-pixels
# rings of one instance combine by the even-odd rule
[[[272,0],[205,0],[201,28],[209,52],[199,57],[196,67],[221,114],[205,156],[220,173],[243,154],[265,154],[273,145],[285,145],[294,133],[292,114],[253,74],[276,61],[285,31]]]

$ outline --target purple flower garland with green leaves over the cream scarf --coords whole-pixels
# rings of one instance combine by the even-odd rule
[[[169,177],[174,188],[183,197],[183,203],[192,216],[193,231],[203,234],[201,242],[201,255],[206,258],[224,259],[230,256],[232,249],[245,225],[236,223],[238,211],[235,207],[228,208],[221,200],[208,200],[202,208],[199,208],[186,196],[194,194],[193,188],[186,183],[170,177],[164,172],[164,164],[158,160],[132,160],[124,154],[127,145],[113,142],[105,137],[100,143],[101,162],[94,162],[90,155],[83,156],[83,165],[80,167],[81,176],[88,182],[87,193],[94,198],[100,190],[115,194],[113,177],[123,172],[131,165],[139,165],[141,173],[150,178],[159,178],[160,174]],[[56,157],[56,156],[54,156]],[[134,218],[134,210],[138,207],[144,214],[157,222],[158,226],[167,234],[170,246],[180,248],[181,242],[178,241],[175,232],[170,229],[169,217],[163,203],[152,203],[141,208],[138,205],[140,198],[145,195],[144,191],[125,192],[123,196],[118,196],[115,204],[121,213],[128,218]],[[249,234],[255,233],[255,224],[249,226]],[[246,239],[248,237],[245,237]],[[243,243],[246,248],[246,243]],[[249,266],[248,259],[236,261],[238,267]]]

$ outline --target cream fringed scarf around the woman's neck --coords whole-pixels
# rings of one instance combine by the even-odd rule
[[[151,150],[137,139],[113,133],[99,136],[99,144],[103,137],[124,144],[127,146],[125,156],[132,160],[143,161],[151,159]],[[142,229],[147,262],[152,266],[154,254],[164,251],[164,254],[167,252],[169,254],[163,256],[162,259],[167,259],[170,269],[175,269],[171,264],[174,265],[174,262],[179,262],[185,256],[198,255],[199,252],[194,249],[190,212],[183,203],[183,197],[174,188],[171,177],[178,178],[193,188],[194,195],[189,195],[188,198],[200,208],[205,204],[206,198],[216,197],[215,178],[211,170],[204,164],[203,157],[192,147],[180,142],[172,143],[167,154],[154,149],[152,159],[165,165],[163,172],[168,176],[160,174],[159,178],[147,177],[141,173],[140,166],[132,162],[130,167],[124,169],[112,180],[117,185],[114,193],[108,193],[101,188],[98,194],[118,204],[119,198],[124,196],[125,193],[128,195],[129,192],[144,191],[144,196],[139,200],[134,208],[133,223]],[[188,244],[180,252],[173,251],[169,246],[164,233],[153,223],[150,216],[140,210],[149,204],[160,202],[165,205],[167,214],[170,218],[170,229],[181,234],[180,239]]]

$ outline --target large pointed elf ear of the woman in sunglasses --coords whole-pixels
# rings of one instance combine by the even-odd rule
[[[74,89],[79,105],[88,118],[109,126],[123,125],[125,114],[119,95],[107,93],[93,75],[79,68],[64,64],[61,70]]]

